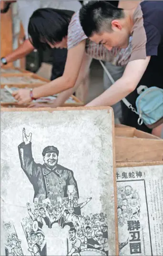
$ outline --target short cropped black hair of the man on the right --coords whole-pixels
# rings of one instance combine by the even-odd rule
[[[79,19],[87,37],[112,30],[112,20],[124,18],[124,11],[107,1],[90,1],[81,7]]]

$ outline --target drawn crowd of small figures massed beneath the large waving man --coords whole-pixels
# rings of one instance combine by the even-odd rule
[[[85,215],[81,209],[87,205],[92,198],[79,203],[79,199],[73,193],[67,192],[68,197],[63,197],[57,205],[51,205],[51,201],[46,199],[42,203],[34,199],[31,207],[27,203],[28,216],[22,219],[22,227],[28,242],[28,250],[32,256],[46,256],[46,240],[42,231],[43,225],[48,228],[55,228],[54,224],[61,228],[68,225],[69,239],[67,255],[80,255],[86,248],[98,249],[108,255],[108,226],[106,215],[96,213]]]

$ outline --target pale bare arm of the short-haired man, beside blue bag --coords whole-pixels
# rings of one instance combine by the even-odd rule
[[[130,61],[120,79],[86,106],[112,106],[133,92],[145,72],[150,56],[145,60]]]

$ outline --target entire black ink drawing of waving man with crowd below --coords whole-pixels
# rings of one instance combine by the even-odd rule
[[[51,229],[56,225],[61,230],[65,226],[70,228],[65,255],[108,256],[107,216],[102,212],[88,215],[83,211],[92,197],[80,200],[73,172],[58,164],[59,151],[56,147],[45,147],[42,151],[44,164],[37,164],[32,157],[32,134],[27,136],[23,128],[22,135],[23,142],[18,146],[20,164],[34,189],[33,203],[26,204],[27,216],[21,220],[31,256],[48,255],[43,227]],[[10,229],[10,223],[4,226]],[[10,251],[14,250],[12,245]]]

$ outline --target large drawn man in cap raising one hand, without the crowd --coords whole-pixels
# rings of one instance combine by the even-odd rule
[[[33,185],[34,198],[40,202],[49,198],[56,205],[58,198],[67,197],[68,185],[73,185],[75,195],[79,198],[77,182],[73,172],[58,164],[59,150],[47,146],[42,151],[44,164],[36,164],[32,157],[31,136],[27,136],[23,128],[23,142],[18,146],[21,168]]]

